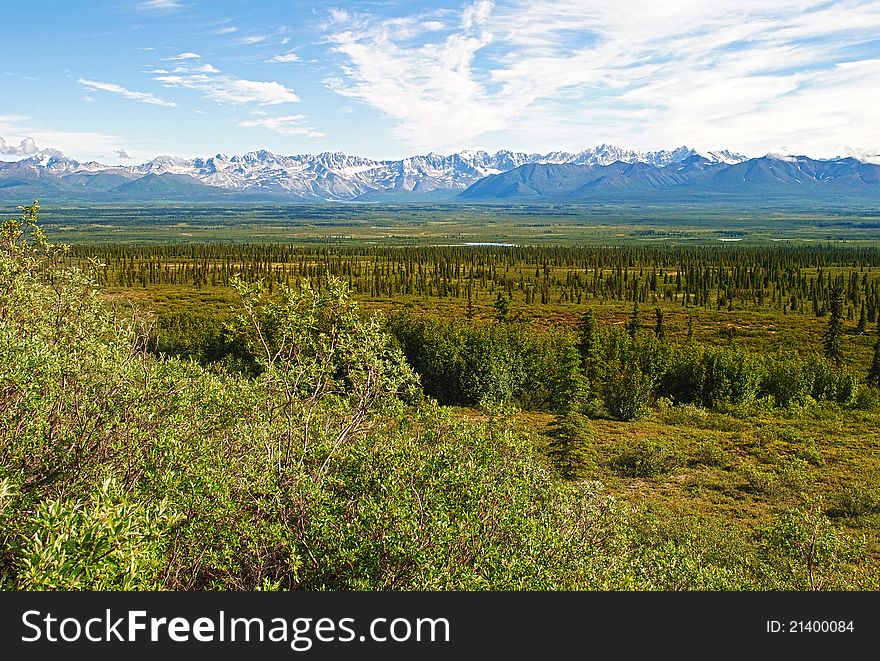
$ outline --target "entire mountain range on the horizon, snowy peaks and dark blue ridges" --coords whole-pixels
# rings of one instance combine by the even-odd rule
[[[852,157],[748,158],[688,147],[636,152],[429,153],[377,161],[343,153],[160,156],[133,166],[80,163],[56,150],[0,162],[0,199],[66,202],[555,202],[847,196],[880,199],[880,165]]]

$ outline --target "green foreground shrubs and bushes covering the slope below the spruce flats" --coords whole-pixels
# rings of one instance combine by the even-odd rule
[[[233,311],[157,324],[100,288],[148,289],[135,274],[155,269],[73,258],[37,213],[0,235],[5,589],[878,587],[867,342],[704,345],[644,306],[650,280],[615,298],[622,274],[625,328],[585,313],[537,332],[506,287],[471,312],[459,291],[463,320],[385,317],[340,275],[231,260]],[[876,301],[870,278],[818,282],[780,305],[815,300],[843,328]]]

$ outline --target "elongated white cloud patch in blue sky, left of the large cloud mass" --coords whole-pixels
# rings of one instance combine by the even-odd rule
[[[281,83],[236,78],[210,64],[178,67],[170,73],[159,73],[154,80],[166,87],[199,91],[217,103],[273,106],[299,101],[296,93]]]

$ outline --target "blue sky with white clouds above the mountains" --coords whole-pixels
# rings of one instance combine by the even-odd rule
[[[880,0],[3,0],[0,24],[0,160],[880,153]]]

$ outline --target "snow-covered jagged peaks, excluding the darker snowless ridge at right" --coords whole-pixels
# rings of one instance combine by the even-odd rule
[[[855,158],[858,159],[858,156]],[[637,179],[641,182],[639,186],[648,186],[645,183],[647,180],[654,186],[659,185],[660,181],[679,181],[700,173],[714,176],[713,173],[725,168],[765,159],[777,163],[803,161],[802,167],[810,172],[817,170],[815,163],[820,162],[803,156],[780,154],[767,155],[764,159],[749,159],[726,149],[697,151],[681,146],[671,150],[642,152],[601,144],[577,152],[498,150],[490,153],[467,149],[454,154],[429,152],[399,160],[375,160],[343,152],[285,156],[260,149],[241,155],[218,153],[191,159],[158,156],[141,165],[108,166],[95,162],[79,163],[61,152],[46,149],[21,161],[0,162],[0,183],[6,185],[16,177],[21,181],[46,183],[57,180],[59,185],[55,190],[64,190],[65,186],[72,186],[73,190],[79,192],[100,189],[102,195],[110,196],[115,185],[129,184],[144,177],[166,177],[163,182],[174,180],[177,184],[184,181],[181,177],[185,177],[188,185],[203,186],[211,194],[227,197],[247,193],[306,201],[415,200],[450,198],[477,182],[510,173],[522,166],[557,168],[558,172],[553,170],[553,176],[562,176],[560,173],[578,167],[610,168],[606,170],[603,180],[594,185],[607,190],[624,184],[635,186]],[[855,160],[849,157],[847,160],[860,166],[869,162],[867,158]],[[821,162],[843,163],[843,159]],[[822,174],[822,180],[840,176],[837,170],[830,168],[827,174]],[[155,185],[145,184],[133,189],[155,188]],[[164,190],[168,188],[165,186]],[[175,189],[181,189],[181,186],[176,185]],[[9,192],[12,189],[7,187],[6,190]]]

